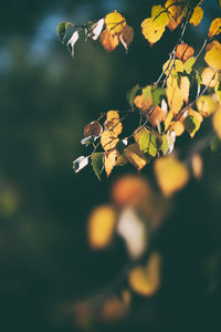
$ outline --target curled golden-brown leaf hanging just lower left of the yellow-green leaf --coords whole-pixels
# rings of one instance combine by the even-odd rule
[[[147,164],[147,158],[140,152],[138,143],[130,144],[125,149],[125,156],[129,163],[131,163],[138,170],[140,170]]]

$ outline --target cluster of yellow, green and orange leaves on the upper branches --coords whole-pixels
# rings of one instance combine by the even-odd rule
[[[122,115],[122,112],[110,110],[85,126],[82,144],[91,146],[93,151],[88,156],[81,156],[73,162],[75,173],[84,168],[91,159],[92,167],[101,179],[103,169],[109,176],[115,166],[130,163],[140,170],[152,158],[164,156],[159,160],[156,159],[155,169],[159,186],[164,194],[169,196],[181,188],[189,178],[186,166],[173,156],[168,156],[173,151],[176,137],[185,132],[193,137],[203,118],[212,115],[214,132],[221,138],[221,43],[218,41],[221,19],[217,18],[211,22],[208,37],[197,54],[194,49],[183,41],[188,23],[197,27],[202,19],[201,2],[167,0],[165,7],[152,7],[151,18],[141,22],[143,34],[149,44],[152,45],[162,37],[166,27],[175,30],[182,22],[180,38],[168,61],[162,65],[159,79],[144,87],[136,84],[127,93],[130,108],[126,114]],[[76,29],[70,22],[59,25],[62,41],[70,25]],[[80,30],[84,30],[88,39],[99,38],[107,51],[113,51],[119,41],[128,50],[134,38],[133,28],[127,25],[120,13],[114,11],[95,23],[77,28],[67,42],[72,53]],[[207,65],[199,73],[196,63],[202,52]],[[193,85],[198,86],[194,94],[191,91]],[[139,116],[140,125],[135,127],[129,136],[125,136],[124,118],[134,112]],[[182,176],[177,181],[177,188],[164,190],[161,175],[164,170],[167,174],[168,169],[172,169],[171,164],[180,169]]]

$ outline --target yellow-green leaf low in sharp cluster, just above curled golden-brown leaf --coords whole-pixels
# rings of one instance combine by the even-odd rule
[[[155,157],[158,153],[158,138],[152,133],[145,132],[140,135],[139,141],[139,148],[145,154],[149,154],[151,157]]]

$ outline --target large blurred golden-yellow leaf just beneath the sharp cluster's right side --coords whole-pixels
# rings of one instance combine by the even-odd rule
[[[166,197],[180,190],[189,180],[187,167],[172,156],[157,158],[154,169],[157,183]]]

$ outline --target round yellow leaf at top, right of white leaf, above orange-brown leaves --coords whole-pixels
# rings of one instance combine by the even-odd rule
[[[105,24],[110,34],[119,34],[126,25],[126,20],[120,13],[113,11],[106,15]]]

